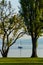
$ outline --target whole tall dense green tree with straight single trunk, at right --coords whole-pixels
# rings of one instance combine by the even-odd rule
[[[43,33],[42,9],[43,0],[20,0],[20,14],[24,17],[25,25],[32,38],[32,56],[37,57],[37,40]]]

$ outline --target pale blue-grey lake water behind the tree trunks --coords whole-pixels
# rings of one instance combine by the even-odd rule
[[[2,41],[0,40],[0,48]],[[22,47],[21,49],[18,47]],[[32,41],[30,39],[18,39],[16,43],[10,47],[8,57],[30,57],[32,54]],[[37,45],[38,57],[43,57],[43,37],[38,39]],[[1,53],[0,53],[0,57]]]

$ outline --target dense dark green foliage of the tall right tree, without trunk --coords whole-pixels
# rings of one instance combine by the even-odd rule
[[[43,0],[20,0],[20,4],[20,14],[24,17],[29,34],[31,35],[36,32],[38,38],[40,33],[43,33],[41,31],[43,23],[40,21],[43,10],[39,7],[41,6],[40,4],[43,4]]]

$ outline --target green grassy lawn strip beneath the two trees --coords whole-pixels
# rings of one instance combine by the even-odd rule
[[[0,58],[0,65],[43,65],[43,58]]]

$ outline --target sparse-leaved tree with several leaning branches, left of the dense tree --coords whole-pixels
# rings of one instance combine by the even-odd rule
[[[10,1],[0,1],[0,38],[2,39],[2,57],[7,57],[9,48],[24,34],[23,18],[14,15]],[[20,29],[22,29],[21,32]]]

